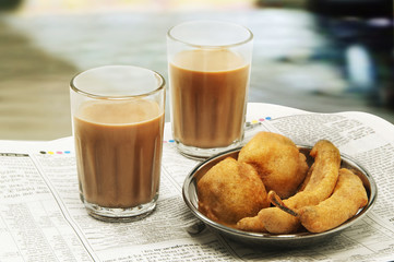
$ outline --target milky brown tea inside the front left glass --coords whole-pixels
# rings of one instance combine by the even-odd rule
[[[89,100],[73,120],[85,203],[128,209],[157,198],[164,111],[156,102]]]

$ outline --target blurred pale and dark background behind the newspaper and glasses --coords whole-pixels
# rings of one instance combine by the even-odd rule
[[[168,79],[167,29],[195,19],[253,32],[249,102],[394,123],[392,0],[0,0],[0,140],[71,135],[80,71],[134,64]]]

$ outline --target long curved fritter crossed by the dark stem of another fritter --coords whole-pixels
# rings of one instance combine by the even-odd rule
[[[319,141],[310,152],[314,164],[305,189],[287,200],[286,206],[298,210],[307,205],[317,205],[327,199],[334,190],[341,167],[339,151],[326,140]],[[254,217],[244,217],[237,228],[248,231],[270,231],[273,234],[296,233],[300,227],[295,217],[278,207],[263,209]]]

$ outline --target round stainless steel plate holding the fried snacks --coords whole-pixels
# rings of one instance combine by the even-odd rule
[[[311,147],[309,146],[299,146],[300,152],[302,152],[311,164],[313,158],[309,156],[309,152]],[[224,225],[220,225],[214,221],[211,221],[205,215],[199,212],[199,199],[196,194],[196,182],[201,179],[205,172],[213,167],[218,162],[223,160],[226,157],[238,157],[240,148],[231,150],[222,154],[218,154],[214,157],[206,159],[205,162],[199,164],[186,178],[183,183],[183,200],[186,204],[189,206],[191,212],[201,219],[205,225],[211,227],[213,230],[219,233],[220,235],[231,238],[236,241],[240,241],[248,245],[259,246],[259,247],[300,247],[300,246],[310,246],[313,243],[321,242],[323,240],[327,240],[329,238],[335,236],[336,234],[343,231],[354,223],[360,221],[368,211],[371,210],[372,205],[377,200],[378,188],[377,184],[368,174],[368,171],[362,168],[359,164],[353,160],[350,157],[346,155],[342,155],[342,167],[346,167],[353,169],[353,171],[358,175],[368,193],[368,204],[358,211],[358,213],[342,224],[341,226],[333,228],[331,230],[313,234],[313,233],[297,233],[297,234],[288,234],[288,235],[274,235],[268,233],[249,233],[242,231],[235,228],[230,228]]]

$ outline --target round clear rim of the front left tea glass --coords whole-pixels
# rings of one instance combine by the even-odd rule
[[[146,92],[146,93],[143,93],[143,94],[136,94],[136,95],[97,95],[97,94],[93,94],[93,93],[89,93],[89,92],[86,92],[86,91],[83,91],[81,88],[79,88],[75,84],[75,80],[83,75],[84,73],[87,73],[87,72],[91,72],[91,71],[94,71],[94,70],[97,70],[97,69],[105,69],[105,68],[134,68],[134,69],[142,69],[142,70],[146,70],[146,71],[150,71],[152,72],[152,74],[158,80],[158,83],[157,83],[157,88],[154,88],[153,91],[150,91],[150,92]],[[91,68],[91,69],[87,69],[87,70],[84,70],[84,71],[81,71],[79,73],[76,73],[70,81],[70,88],[72,91],[74,91],[75,93],[77,94],[81,94],[81,95],[84,95],[84,96],[87,96],[87,97],[91,97],[91,98],[95,98],[95,99],[108,99],[108,100],[112,100],[112,99],[130,99],[130,98],[141,98],[141,97],[146,97],[146,96],[151,96],[155,93],[158,93],[159,91],[164,90],[166,86],[166,80],[164,79],[164,76],[154,71],[154,70],[151,70],[151,69],[147,69],[147,68],[143,68],[143,67],[138,67],[138,66],[126,66],[126,64],[111,64],[111,66],[102,66],[102,67],[95,67],[95,68]]]

